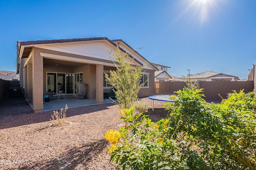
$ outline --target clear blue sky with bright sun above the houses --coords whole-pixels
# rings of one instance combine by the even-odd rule
[[[123,39],[181,77],[247,78],[256,64],[255,0],[8,0],[0,2],[0,70],[16,70],[16,41]]]

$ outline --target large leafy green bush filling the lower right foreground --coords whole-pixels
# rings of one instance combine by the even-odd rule
[[[119,169],[256,169],[256,97],[243,91],[220,104],[208,104],[202,89],[179,90],[170,117],[153,123],[130,115],[119,129],[111,160]],[[119,139],[118,139],[119,140]]]

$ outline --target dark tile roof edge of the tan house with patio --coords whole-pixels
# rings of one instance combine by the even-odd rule
[[[51,44],[51,43],[68,43],[68,42],[78,42],[78,41],[96,41],[96,40],[106,40],[108,41],[110,44],[114,45],[115,47],[118,47],[118,45],[116,43],[114,43],[115,41],[121,41],[124,44],[126,44],[130,49],[132,49],[132,47],[130,47],[130,45],[128,45],[127,43],[125,43],[122,39],[115,39],[115,40],[110,40],[108,39],[108,37],[94,37],[94,38],[74,38],[74,39],[52,39],[52,40],[37,40],[37,41],[17,41],[17,55],[20,56],[20,49],[21,46],[27,46],[28,48],[23,51],[22,57],[27,58],[30,54],[30,51],[32,50],[32,46],[34,45],[40,45],[40,44]],[[122,49],[121,47],[119,47],[119,49],[124,52],[127,53],[124,49]],[[147,61],[148,63],[150,63],[147,59],[145,59],[142,55],[140,55],[140,53],[138,53],[137,51],[135,51],[134,49],[132,49],[135,53],[137,53],[140,57],[142,57],[145,61]],[[128,54],[130,58],[134,59],[134,61],[136,61],[138,64],[143,65],[142,63],[140,63],[140,61],[138,61],[137,59],[135,59],[132,55]],[[152,63],[150,63],[150,65],[152,65],[154,68],[156,68],[156,66],[154,66]],[[158,68],[156,68],[158,70]]]

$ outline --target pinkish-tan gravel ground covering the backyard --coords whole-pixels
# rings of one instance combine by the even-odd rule
[[[141,99],[144,102],[148,98]],[[167,116],[164,102],[154,102],[154,113],[148,109],[152,121]],[[9,99],[0,104],[0,169],[75,169],[116,170],[110,162],[104,139],[109,129],[125,125],[120,108],[114,104],[100,104],[70,108],[68,125],[52,127],[52,111],[33,113],[24,98]]]

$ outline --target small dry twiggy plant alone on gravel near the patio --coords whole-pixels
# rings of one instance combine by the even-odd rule
[[[65,106],[65,109],[61,108],[59,111],[53,111],[52,115],[52,126],[64,126],[67,124],[66,122],[66,112],[68,110],[68,106]]]

